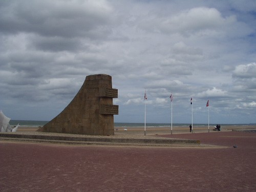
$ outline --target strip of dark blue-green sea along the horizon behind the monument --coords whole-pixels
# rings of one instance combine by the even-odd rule
[[[10,120],[10,125],[14,126],[19,124],[19,126],[44,126],[49,121],[31,121],[31,120]],[[173,127],[188,127],[190,123],[173,123]],[[221,124],[221,126],[249,126],[249,125],[255,125],[255,123],[251,124]],[[121,122],[115,122],[115,127],[144,127],[145,123],[121,123]],[[146,127],[166,127],[171,126],[170,123],[146,123]],[[208,126],[207,124],[197,124],[193,123],[193,126]],[[209,124],[209,126],[216,126],[216,124]]]

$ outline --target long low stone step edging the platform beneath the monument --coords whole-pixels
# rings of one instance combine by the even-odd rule
[[[122,136],[89,136],[59,133],[15,132],[0,133],[0,140],[21,142],[48,142],[67,144],[100,144],[100,145],[138,145],[138,146],[169,146],[169,145],[200,145],[199,140],[161,138],[154,136],[122,135]]]

